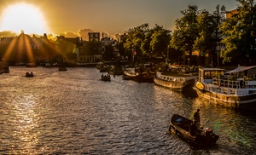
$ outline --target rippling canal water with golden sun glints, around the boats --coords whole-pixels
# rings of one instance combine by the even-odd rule
[[[99,80],[96,68],[10,66],[0,75],[0,154],[253,154],[256,117],[120,76]],[[34,78],[26,78],[33,72]],[[219,135],[215,146],[195,147],[166,134],[177,113]]]

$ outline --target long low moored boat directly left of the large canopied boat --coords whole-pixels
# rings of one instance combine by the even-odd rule
[[[176,73],[176,72],[156,72],[154,83],[169,88],[181,91],[185,86],[195,83],[197,76],[192,73]]]

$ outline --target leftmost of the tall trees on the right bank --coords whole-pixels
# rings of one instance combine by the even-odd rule
[[[170,46],[173,49],[182,50],[189,53],[192,58],[196,37],[199,36],[197,16],[199,14],[197,6],[189,5],[189,9],[181,11],[183,17],[175,20],[175,30],[172,34]]]

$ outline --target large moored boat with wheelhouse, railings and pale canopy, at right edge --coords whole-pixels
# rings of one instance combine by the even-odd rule
[[[255,67],[238,66],[230,72],[200,68],[194,89],[198,96],[221,105],[256,110],[256,78],[250,75]]]

